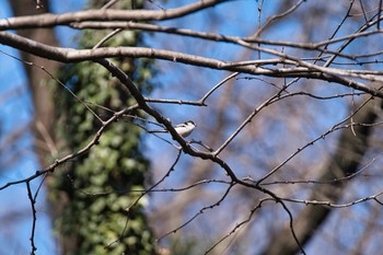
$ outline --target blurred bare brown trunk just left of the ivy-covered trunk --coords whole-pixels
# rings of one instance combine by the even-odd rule
[[[36,13],[48,12],[48,0],[42,0],[43,9],[36,10],[36,3],[32,0],[9,1],[15,16],[33,15]],[[18,33],[26,38],[37,40],[47,45],[57,46],[58,42],[54,30],[37,28],[37,30],[19,30]],[[24,51],[20,51],[24,61],[33,62],[43,66],[49,72],[54,73],[59,63],[45,58],[39,58]],[[33,97],[34,106],[34,135],[35,135],[35,151],[40,165],[46,164],[47,155],[51,152],[51,146],[55,141],[54,136],[54,119],[55,105],[51,100],[51,90],[49,88],[49,77],[39,68],[24,62],[24,69],[28,78],[28,88]]]

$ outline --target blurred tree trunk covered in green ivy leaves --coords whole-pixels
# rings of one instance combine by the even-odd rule
[[[135,1],[134,8],[142,7],[142,2]],[[91,2],[92,8],[103,3]],[[118,1],[112,8],[132,7],[130,1]],[[85,31],[79,37],[79,47],[92,48],[108,33],[111,31]],[[105,45],[136,46],[140,43],[138,33],[123,31]],[[132,77],[141,90],[150,89],[146,83],[152,73],[150,62],[129,58],[112,61]],[[95,136],[102,125],[95,115],[105,119],[134,103],[118,81],[96,63],[67,65],[60,70],[59,79],[78,97],[57,86],[57,136],[63,140],[67,153],[79,151]],[[130,190],[143,189],[150,169],[139,146],[140,139],[140,128],[128,118],[116,121],[88,153],[55,172],[51,189],[57,192],[50,193],[50,199],[61,206],[55,228],[62,254],[155,254],[143,205],[137,205],[129,212],[126,210],[139,196]]]

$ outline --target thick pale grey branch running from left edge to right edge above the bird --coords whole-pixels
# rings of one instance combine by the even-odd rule
[[[5,44],[11,47],[21,49],[23,51],[39,56],[43,58],[61,61],[61,62],[78,62],[85,60],[97,60],[101,58],[109,57],[132,57],[132,58],[154,58],[169,61],[182,62],[193,66],[208,67],[218,70],[228,70],[233,72],[242,72],[249,74],[263,74],[268,77],[288,77],[288,78],[310,78],[324,80],[329,82],[337,82],[339,84],[353,88],[359,91],[364,91],[371,95],[383,98],[383,92],[369,88],[363,83],[355,80],[346,79],[343,76],[359,76],[359,78],[365,78],[371,81],[383,81],[379,76],[365,74],[360,77],[359,73],[347,72],[341,69],[323,68],[303,60],[299,60],[294,57],[280,54],[271,49],[264,49],[269,54],[275,54],[280,57],[280,63],[292,63],[291,61],[298,61],[297,65],[303,65],[303,68],[279,68],[269,69],[262,68],[259,65],[255,66],[233,66],[228,65],[227,61],[205,58],[196,55],[188,55],[183,53],[176,53],[164,49],[143,48],[143,47],[114,47],[114,48],[96,48],[96,49],[81,49],[76,50],[71,48],[53,47],[45,44],[31,40],[19,35],[14,35],[8,32],[0,32],[0,44]],[[288,60],[285,58],[289,58]],[[337,76],[339,72],[340,76]]]

